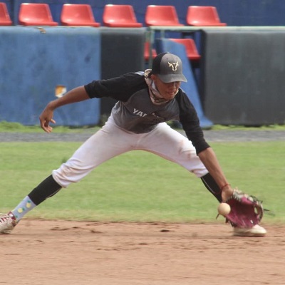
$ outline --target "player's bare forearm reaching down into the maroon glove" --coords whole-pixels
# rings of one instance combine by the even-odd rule
[[[207,147],[198,153],[199,159],[203,162],[204,166],[209,171],[209,174],[214,178],[214,181],[222,190],[222,200],[226,201],[227,197],[230,197],[233,193],[231,185],[227,182],[227,178],[222,171],[222,167],[219,165],[217,156],[212,150],[212,147]]]

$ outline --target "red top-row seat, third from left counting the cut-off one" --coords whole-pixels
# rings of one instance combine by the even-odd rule
[[[61,24],[63,26],[100,26],[100,23],[95,21],[91,6],[88,4],[63,4]]]

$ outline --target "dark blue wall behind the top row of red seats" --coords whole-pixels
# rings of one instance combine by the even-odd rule
[[[1,0],[8,8],[14,23],[18,23],[19,6],[24,2],[47,3],[51,6],[53,19],[60,21],[61,6],[66,3],[90,4],[96,21],[102,24],[103,8],[105,4],[130,4],[135,9],[138,21],[144,24],[147,5],[175,5],[180,22],[185,24],[188,6],[216,6],[221,21],[229,26],[285,26],[284,0],[45,0],[21,1]]]

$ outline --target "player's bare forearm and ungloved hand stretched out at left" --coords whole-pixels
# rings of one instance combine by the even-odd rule
[[[53,111],[56,110],[56,108],[87,99],[90,99],[90,97],[86,93],[84,86],[79,86],[68,91],[63,97],[52,100],[46,105],[46,108],[43,109],[43,112],[39,116],[41,128],[46,133],[51,133],[53,128],[50,126],[50,123],[56,123],[56,121],[53,120]]]

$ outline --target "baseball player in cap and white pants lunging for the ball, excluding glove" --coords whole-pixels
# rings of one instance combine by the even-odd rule
[[[199,177],[219,202],[232,195],[217,157],[204,139],[194,106],[180,88],[187,82],[182,61],[172,53],[160,53],[152,69],[127,73],[117,78],[92,81],[52,100],[41,113],[41,128],[51,133],[53,112],[66,104],[92,98],[118,100],[103,128],[92,135],[73,156],[43,180],[11,212],[0,216],[0,233],[9,234],[31,209],[62,187],[83,179],[90,171],[110,158],[130,150],[146,150],[176,162]],[[180,120],[187,138],[167,125]],[[239,236],[264,236],[259,226],[233,227]]]

